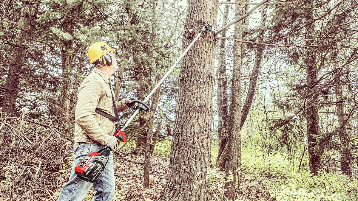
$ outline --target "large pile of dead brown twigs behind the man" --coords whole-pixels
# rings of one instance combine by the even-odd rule
[[[0,122],[0,197],[4,200],[53,198],[71,170],[73,144],[59,126],[22,117]]]

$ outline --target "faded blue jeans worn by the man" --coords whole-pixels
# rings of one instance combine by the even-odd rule
[[[105,170],[97,182],[90,183],[83,181],[74,173],[74,168],[86,155],[92,152],[97,152],[102,148],[105,148],[105,146],[85,142],[80,142],[79,146],[77,146],[77,142],[74,143],[73,151],[76,153],[76,157],[73,160],[69,180],[61,190],[58,198],[59,201],[82,201],[83,198],[86,197],[92,184],[93,189],[97,191],[95,194],[95,201],[112,200],[115,191],[112,152],[110,152],[110,158],[108,159]]]

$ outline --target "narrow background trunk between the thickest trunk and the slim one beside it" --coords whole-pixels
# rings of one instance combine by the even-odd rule
[[[230,0],[228,0],[229,2]],[[228,22],[230,4],[225,5],[223,13],[223,24]],[[221,34],[226,36],[226,30]],[[219,55],[219,68],[218,68],[218,92],[217,92],[217,106],[218,106],[218,138],[219,138],[219,151],[218,158],[224,150],[227,140],[227,118],[228,118],[228,94],[227,94],[227,77],[226,77],[226,39],[220,39],[220,55]]]

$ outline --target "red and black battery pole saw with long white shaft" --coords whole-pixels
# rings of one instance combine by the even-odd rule
[[[187,49],[184,50],[182,55],[174,62],[174,64],[171,66],[171,68],[168,70],[168,72],[165,73],[163,78],[160,79],[158,84],[153,88],[153,90],[147,95],[147,97],[141,101],[141,100],[132,100],[132,102],[138,103],[138,105],[135,107],[135,112],[132,114],[132,116],[128,119],[128,121],[122,126],[122,128],[113,134],[116,138],[118,138],[121,142],[126,142],[126,134],[124,133],[125,129],[131,123],[131,121],[134,119],[134,117],[137,115],[139,111],[145,111],[148,112],[150,110],[150,107],[145,103],[149,100],[149,97],[151,97],[154,92],[158,89],[158,87],[163,83],[166,77],[168,77],[169,73],[175,68],[175,66],[179,63],[179,61],[184,57],[184,55],[188,52],[188,50],[192,47],[192,45],[197,41],[197,39],[204,33],[204,31],[208,32],[216,32],[218,31],[217,28],[214,28],[212,25],[205,24],[203,28],[199,31],[199,34],[195,37],[195,39],[189,44]],[[105,147],[101,149],[98,152],[92,152],[89,153],[86,157],[84,157],[74,168],[74,172],[76,175],[81,178],[84,181],[87,182],[96,182],[100,179],[100,177],[103,174],[103,170],[105,169],[105,166],[107,164],[107,161],[110,156],[110,148]]]

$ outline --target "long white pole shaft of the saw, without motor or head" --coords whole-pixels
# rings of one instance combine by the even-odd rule
[[[175,68],[175,66],[180,62],[180,60],[184,57],[184,55],[188,52],[188,50],[193,46],[193,44],[195,43],[195,41],[198,40],[198,38],[200,37],[200,35],[202,35],[202,33],[205,31],[205,26],[199,31],[199,34],[197,35],[197,37],[194,38],[194,40],[189,44],[189,46],[187,47],[187,49],[184,50],[183,54],[180,55],[180,57],[178,59],[175,60],[174,64],[170,67],[170,69],[168,70],[168,72],[165,73],[165,75],[163,76],[163,78],[161,78],[158,82],[157,85],[155,85],[155,87],[153,88],[153,90],[147,95],[147,97],[143,100],[143,102],[147,102],[149,100],[149,97],[151,97],[154,92],[158,89],[158,87],[161,85],[161,83],[163,83],[163,81],[166,79],[166,77],[168,77],[169,73]],[[132,114],[132,116],[128,119],[128,121],[124,124],[124,126],[121,128],[122,131],[124,131],[124,129],[129,125],[129,123],[131,123],[131,121],[134,119],[134,117],[137,115],[137,113],[139,112],[139,109],[136,109],[136,111]]]

